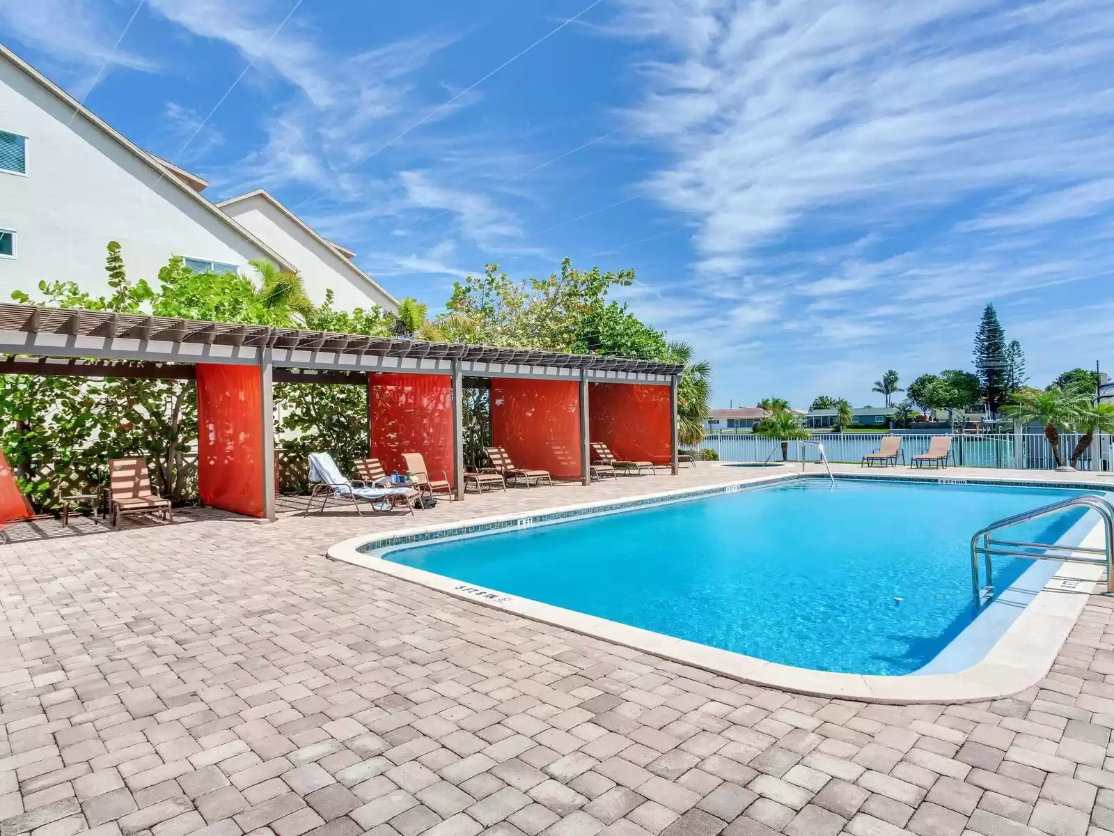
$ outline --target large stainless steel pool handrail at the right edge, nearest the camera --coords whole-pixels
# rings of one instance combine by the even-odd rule
[[[1058,514],[1068,508],[1087,508],[1102,517],[1103,521],[1103,547],[1092,546],[1062,546],[1056,543],[1027,543],[1018,539],[991,539],[990,535],[1012,525],[1027,523],[1030,519],[1038,519],[1051,514]],[[1042,553],[1032,551],[1039,548]],[[983,555],[986,561],[986,585],[979,585],[978,558]],[[1102,558],[1087,557],[1085,555],[1102,555]],[[1101,496],[1085,494],[1062,499],[1058,503],[1043,505],[1033,511],[1015,514],[1012,517],[1004,517],[985,528],[980,528],[971,536],[971,591],[975,595],[975,609],[983,607],[994,597],[994,570],[993,556],[999,557],[1028,557],[1039,561],[1059,561],[1062,563],[1091,563],[1106,566],[1106,594],[1114,594],[1114,505]]]

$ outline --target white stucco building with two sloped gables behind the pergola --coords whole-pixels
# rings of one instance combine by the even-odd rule
[[[207,183],[150,155],[0,45],[0,301],[42,280],[108,292],[106,245],[118,241],[128,276],[157,286],[180,255],[196,271],[251,274],[266,259],[299,271],[320,302],[339,308],[397,301],[336,245],[263,192],[228,202]],[[237,217],[240,220],[237,220]]]

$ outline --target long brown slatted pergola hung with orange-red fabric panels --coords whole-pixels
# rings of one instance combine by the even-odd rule
[[[367,385],[370,455],[422,453],[458,498],[465,377],[490,379],[492,443],[519,466],[587,485],[603,441],[677,473],[673,363],[25,304],[0,304],[0,354],[4,373],[196,379],[202,498],[268,519],[275,382]]]

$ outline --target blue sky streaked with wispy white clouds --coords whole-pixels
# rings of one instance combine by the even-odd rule
[[[431,311],[486,262],[634,268],[715,406],[969,369],[987,302],[1034,383],[1114,364],[1111,0],[0,0],[0,32]]]

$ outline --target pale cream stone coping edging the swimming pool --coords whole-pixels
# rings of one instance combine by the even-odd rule
[[[768,476],[740,479],[737,482],[706,485],[695,488],[664,490],[623,499],[597,500],[576,505],[564,505],[529,513],[502,514],[476,517],[469,521],[440,523],[431,526],[404,528],[380,535],[362,535],[342,541],[329,548],[328,556],[335,561],[417,583],[431,590],[443,592],[457,599],[483,604],[506,613],[554,626],[614,642],[639,650],[680,664],[686,664],[721,675],[737,679],[763,688],[813,697],[849,699],[862,702],[893,704],[983,702],[1001,699],[1032,688],[1045,678],[1057,653],[1086,606],[1095,582],[1103,574],[1103,567],[1094,564],[1064,563],[1014,620],[994,647],[976,664],[954,673],[873,675],[859,673],[832,673],[805,668],[770,662],[764,659],[735,653],[697,642],[677,639],[664,633],[622,624],[608,619],[566,610],[540,601],[511,595],[469,584],[446,575],[426,572],[400,563],[383,560],[360,551],[393,550],[403,545],[467,536],[481,532],[496,532],[537,522],[550,523],[564,518],[607,514],[624,508],[684,502],[701,496],[735,493],[747,488],[761,488],[779,482],[800,478],[824,478],[815,473],[778,473]],[[994,477],[965,476],[961,479],[942,477],[939,474],[895,475],[885,474],[839,474],[838,478],[871,479],[879,482],[935,482],[990,485],[1020,485],[1025,487],[1058,488],[1110,488],[1108,484],[1078,482],[1040,482],[1019,479],[996,479]],[[1102,523],[1088,531],[1079,545],[1102,545]]]

